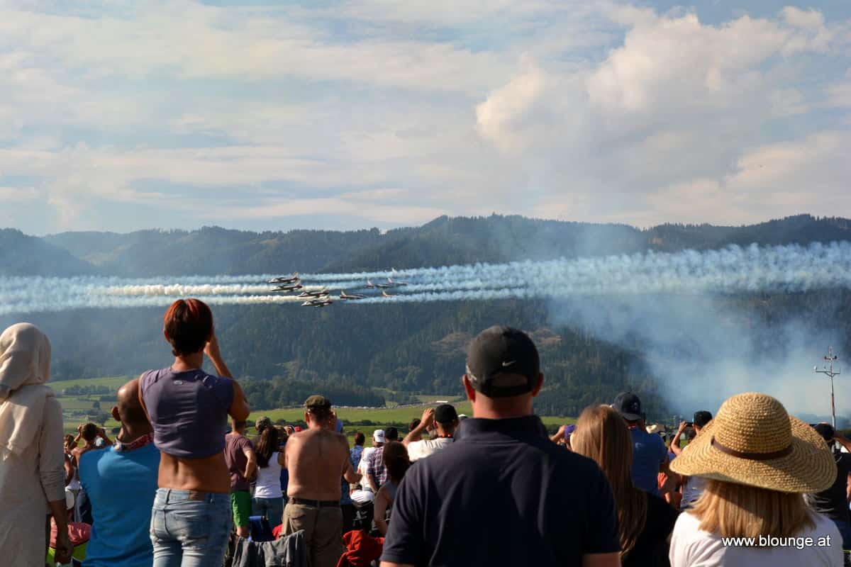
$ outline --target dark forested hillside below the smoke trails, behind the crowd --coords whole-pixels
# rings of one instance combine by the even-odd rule
[[[533,334],[547,382],[546,413],[577,415],[634,385],[648,411],[664,415],[639,354],[546,323],[546,305],[531,301],[410,303],[374,309],[304,310],[285,305],[217,306],[222,353],[254,409],[298,405],[323,392],[336,403],[374,405],[412,393],[462,395],[465,348],[483,328],[510,321]],[[77,309],[27,320],[53,343],[54,386],[77,377],[138,375],[168,366],[163,309]],[[0,327],[15,321],[0,316]]]

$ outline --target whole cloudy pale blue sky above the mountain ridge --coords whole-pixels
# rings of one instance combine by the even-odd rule
[[[851,3],[0,0],[0,227],[851,216]]]

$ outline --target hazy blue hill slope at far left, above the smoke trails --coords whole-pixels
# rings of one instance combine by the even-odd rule
[[[0,275],[89,275],[92,264],[20,230],[0,230]]]

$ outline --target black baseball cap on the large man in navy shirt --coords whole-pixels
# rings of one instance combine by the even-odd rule
[[[466,370],[472,387],[488,398],[528,394],[540,376],[538,349],[523,331],[492,326],[471,341]]]

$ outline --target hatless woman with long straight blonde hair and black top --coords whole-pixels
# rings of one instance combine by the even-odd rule
[[[618,507],[624,567],[668,564],[667,539],[677,511],[632,484],[632,437],[624,418],[608,405],[585,408],[570,437],[574,452],[590,457],[612,485]]]

